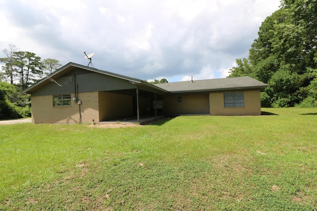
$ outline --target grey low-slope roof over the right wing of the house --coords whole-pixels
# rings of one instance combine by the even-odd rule
[[[193,82],[173,82],[155,85],[171,93],[222,91],[233,89],[261,89],[267,86],[266,84],[248,76],[225,79],[199,80]]]

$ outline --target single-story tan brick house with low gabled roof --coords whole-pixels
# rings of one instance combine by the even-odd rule
[[[250,77],[166,84],[68,63],[23,90],[32,123],[96,123],[158,115],[261,115],[260,89]]]

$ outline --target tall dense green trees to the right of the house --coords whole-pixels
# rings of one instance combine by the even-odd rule
[[[248,58],[229,77],[250,76],[268,86],[265,107],[317,107],[317,0],[281,0],[262,23]]]

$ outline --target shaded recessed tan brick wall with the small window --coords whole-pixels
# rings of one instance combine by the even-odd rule
[[[182,103],[177,103],[177,96],[166,96],[164,113],[209,114],[209,94],[182,95]]]

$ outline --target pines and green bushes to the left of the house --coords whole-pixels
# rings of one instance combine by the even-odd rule
[[[0,71],[0,119],[31,116],[29,95],[20,92],[61,67],[56,59],[44,59],[29,51],[18,51],[14,44],[2,50]]]

